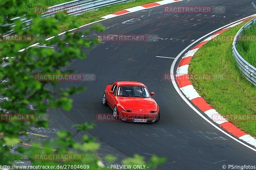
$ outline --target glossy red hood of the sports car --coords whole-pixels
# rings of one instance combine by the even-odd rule
[[[118,97],[120,104],[124,106],[125,109],[135,108],[135,109],[157,109],[155,101],[148,98],[134,98],[134,97]]]

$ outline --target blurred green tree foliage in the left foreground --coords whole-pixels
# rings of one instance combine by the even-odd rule
[[[55,37],[51,41],[45,41],[45,37],[57,35],[60,30],[59,23],[70,22],[69,28],[75,28],[81,25],[72,16],[67,16],[65,13],[57,13],[51,18],[41,18],[41,14],[26,10],[29,0],[2,0],[0,2],[0,34],[3,36],[10,30],[15,30],[17,35],[32,35],[33,37],[41,37],[33,41],[1,41],[1,65],[0,67],[0,98],[5,98],[0,103],[0,114],[45,114],[47,107],[62,108],[70,110],[72,100],[70,95],[79,93],[84,90],[80,87],[59,88],[52,92],[49,86],[56,87],[58,81],[35,81],[33,74],[35,73],[63,73],[61,67],[69,66],[73,59],[84,59],[85,53],[82,48],[90,48],[97,44],[97,40],[88,40],[81,38],[83,34],[89,34],[92,30],[97,32],[104,31],[104,27],[94,25],[87,31],[79,31],[72,34],[66,32],[65,36]],[[12,9],[12,10],[10,10]],[[14,10],[13,10],[14,9]],[[10,12],[11,11],[11,12]],[[8,18],[6,19],[6,16]],[[33,24],[28,29],[26,23],[22,23],[19,19],[11,20],[17,16],[32,19]],[[4,19],[5,18],[5,19]],[[42,36],[43,35],[43,36]],[[43,37],[43,38],[42,38]],[[35,41],[42,45],[58,44],[58,50],[54,48],[27,48]],[[68,45],[67,45],[68,43]],[[19,52],[20,49],[27,48]],[[6,64],[8,63],[8,64]],[[33,110],[29,107],[33,106]],[[57,137],[43,143],[34,143],[29,148],[22,147],[20,136],[28,135],[30,126],[48,127],[48,121],[0,121],[0,165],[12,165],[15,160],[29,159],[32,165],[90,165],[90,169],[106,168],[100,162],[92,151],[99,148],[99,144],[93,138],[87,135],[82,137],[80,142],[72,138],[70,132],[59,131]],[[83,125],[75,125],[77,132],[86,131],[93,128],[93,124],[84,123]],[[16,145],[19,154],[10,152],[10,148]],[[68,160],[68,161],[38,161],[35,159],[35,154],[54,154],[54,153],[81,153],[84,158],[87,155],[90,159]],[[106,156],[109,161],[115,160],[112,156]],[[143,157],[135,155],[134,158],[125,159],[124,164],[147,164],[149,167],[156,168],[157,165],[163,163],[164,158],[152,157],[148,162],[145,162]],[[72,169],[72,168],[69,168]],[[74,168],[73,168],[74,169]],[[81,168],[80,168],[81,169]]]

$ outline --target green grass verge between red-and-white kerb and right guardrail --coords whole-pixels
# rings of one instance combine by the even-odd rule
[[[240,24],[219,36],[235,36]],[[216,37],[218,38],[218,37]],[[196,91],[223,117],[256,114],[256,87],[248,82],[238,69],[232,56],[232,41],[220,42],[216,38],[206,43],[192,57],[188,72],[225,75],[221,80],[191,80]],[[256,137],[256,121],[228,120]]]

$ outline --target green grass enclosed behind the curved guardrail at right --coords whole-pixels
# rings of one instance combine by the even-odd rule
[[[246,29],[246,31],[242,33],[242,36],[246,36],[248,38],[252,38],[252,36],[254,36],[252,41],[240,41],[237,43],[237,51],[243,56],[245,61],[256,67],[256,25]]]

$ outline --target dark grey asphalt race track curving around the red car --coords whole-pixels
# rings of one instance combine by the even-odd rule
[[[201,15],[163,13],[164,6],[184,5],[222,5],[226,12]],[[84,49],[87,59],[74,61],[63,70],[93,73],[96,80],[61,83],[61,87],[77,85],[85,86],[87,90],[72,96],[71,111],[50,110],[50,127],[71,129],[74,123],[95,122],[96,127],[90,135],[99,137],[102,144],[99,155],[112,154],[119,159],[135,153],[147,159],[152,155],[166,157],[167,161],[160,169],[222,169],[222,165],[256,165],[254,151],[197,115],[180,98],[172,82],[163,79],[164,74],[170,73],[173,59],[156,57],[175,58],[205,34],[254,13],[256,10],[251,0],[184,0],[99,22],[107,28],[104,34],[156,34],[159,39],[154,42],[105,42],[90,50]],[[87,36],[90,37],[95,35]],[[159,122],[141,124],[96,119],[97,114],[113,112],[110,107],[102,105],[102,95],[106,85],[119,80],[139,81],[150,92],[155,92],[153,98],[161,111]],[[81,134],[76,138],[81,138]]]

